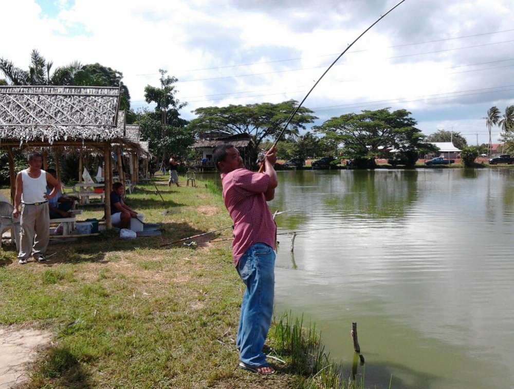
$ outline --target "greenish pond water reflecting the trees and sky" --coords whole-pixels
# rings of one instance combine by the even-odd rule
[[[514,170],[278,174],[276,315],[346,377],[357,322],[366,387],[514,387]]]

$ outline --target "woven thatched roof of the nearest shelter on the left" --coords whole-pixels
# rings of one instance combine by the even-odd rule
[[[116,87],[0,86],[0,142],[123,137],[119,99]]]

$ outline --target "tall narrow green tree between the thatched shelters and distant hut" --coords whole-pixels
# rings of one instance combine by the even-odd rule
[[[180,118],[179,110],[187,103],[181,103],[176,97],[178,80],[167,76],[167,70],[159,69],[159,73],[160,87],[147,85],[144,88],[144,99],[147,103],[156,103],[155,110],[138,114],[137,123],[149,140],[152,153],[166,163],[170,153],[185,157],[184,148],[193,144],[194,137],[191,130],[185,128],[189,122]]]

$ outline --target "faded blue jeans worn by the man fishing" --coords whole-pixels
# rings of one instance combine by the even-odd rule
[[[262,352],[273,315],[275,252],[264,243],[255,243],[239,260],[237,273],[246,285],[236,346],[241,362],[267,366]]]

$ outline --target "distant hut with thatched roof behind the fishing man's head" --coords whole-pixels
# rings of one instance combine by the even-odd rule
[[[231,135],[225,132],[212,131],[200,132],[198,134],[198,139],[190,148],[196,149],[198,154],[201,155],[201,158],[197,161],[190,161],[188,166],[215,168],[212,162],[212,151],[214,147],[224,143],[234,145],[234,147],[239,150],[246,166],[252,164],[252,161],[250,161],[251,154],[249,152],[252,145],[252,137],[250,134],[242,133]]]

